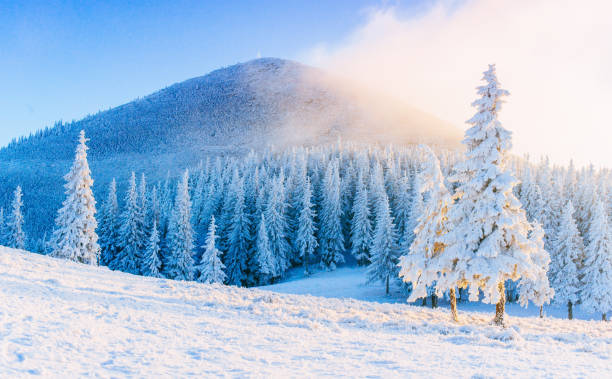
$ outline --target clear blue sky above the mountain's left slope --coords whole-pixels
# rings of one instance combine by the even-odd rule
[[[0,145],[218,67],[299,58],[412,1],[0,0]]]

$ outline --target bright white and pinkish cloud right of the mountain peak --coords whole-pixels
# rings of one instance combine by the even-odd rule
[[[387,7],[305,60],[462,128],[482,71],[497,63],[516,153],[612,166],[611,4],[441,1],[412,15]]]

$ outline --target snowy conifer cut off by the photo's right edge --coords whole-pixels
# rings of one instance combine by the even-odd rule
[[[589,225],[590,242],[582,270],[582,307],[589,312],[600,312],[605,321],[606,312],[612,310],[612,234],[600,200],[595,201]]]

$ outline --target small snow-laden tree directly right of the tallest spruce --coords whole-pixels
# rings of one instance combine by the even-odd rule
[[[550,256],[544,249],[544,229],[539,222],[535,221],[530,232],[529,239],[533,241],[536,249],[531,253],[531,259],[537,266],[535,277],[523,277],[518,284],[519,303],[526,307],[529,300],[540,307],[540,318],[544,317],[543,307],[549,303],[555,294],[555,290],[548,282],[548,266]]]

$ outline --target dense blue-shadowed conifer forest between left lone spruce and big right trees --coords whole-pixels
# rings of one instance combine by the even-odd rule
[[[421,156],[413,146],[334,144],[207,159],[176,184],[149,185],[134,173],[122,207],[117,184],[108,188],[100,262],[140,275],[253,286],[292,267],[308,274],[348,259],[389,287],[399,282],[400,246],[412,234]]]

